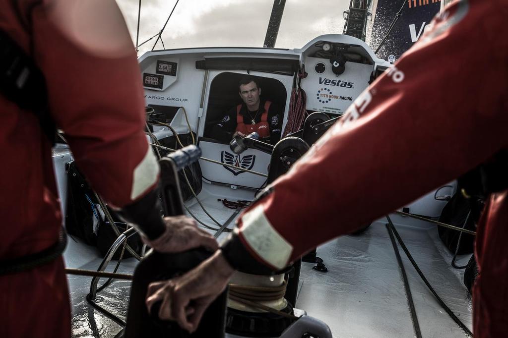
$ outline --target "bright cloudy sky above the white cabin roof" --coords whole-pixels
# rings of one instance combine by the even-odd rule
[[[116,0],[136,42],[139,0]],[[142,0],[139,42],[162,29],[176,0]],[[316,36],[342,33],[350,0],[287,0],[275,47],[300,48]],[[163,33],[170,48],[262,47],[273,0],[180,0]],[[140,47],[141,55],[155,39]],[[155,49],[162,49],[161,42]]]

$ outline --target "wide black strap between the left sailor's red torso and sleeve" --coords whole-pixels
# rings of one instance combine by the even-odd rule
[[[33,59],[1,29],[0,93],[19,108],[34,113],[51,145],[54,144],[56,125],[49,114],[44,75]]]

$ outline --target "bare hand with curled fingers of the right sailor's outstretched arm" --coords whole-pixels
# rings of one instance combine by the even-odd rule
[[[208,306],[224,291],[233,268],[220,251],[183,276],[148,286],[146,306],[162,300],[159,318],[174,320],[181,328],[194,332]]]

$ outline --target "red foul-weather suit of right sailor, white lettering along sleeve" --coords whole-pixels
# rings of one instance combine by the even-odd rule
[[[458,1],[440,13],[420,41],[274,182],[273,191],[241,216],[223,244],[226,259],[238,267],[253,257],[281,269],[506,149],[507,17],[505,0]],[[313,231],[315,224],[322,224],[320,231]],[[478,225],[477,338],[508,336],[506,241],[503,191],[490,196]]]

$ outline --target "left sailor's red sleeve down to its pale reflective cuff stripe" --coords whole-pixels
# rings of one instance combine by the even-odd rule
[[[130,204],[156,183],[158,165],[143,131],[135,49],[116,3],[45,1],[31,20],[51,114],[80,170],[109,202]]]

